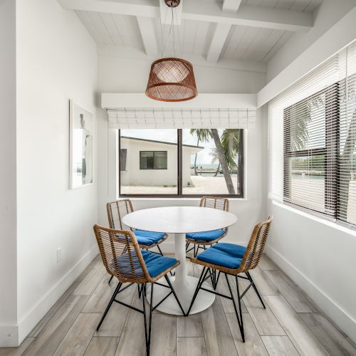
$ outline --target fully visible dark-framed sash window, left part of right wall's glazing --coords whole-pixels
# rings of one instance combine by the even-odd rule
[[[335,216],[337,84],[283,112],[284,201]]]

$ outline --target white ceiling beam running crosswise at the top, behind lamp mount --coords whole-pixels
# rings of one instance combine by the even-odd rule
[[[130,1],[130,2],[129,2]],[[58,0],[64,9],[98,11],[159,18],[159,6],[154,0]],[[184,3],[182,19],[229,23],[230,25],[274,28],[284,31],[308,31],[313,27],[313,14],[302,11],[240,6],[236,13],[221,11],[215,1],[189,0]]]

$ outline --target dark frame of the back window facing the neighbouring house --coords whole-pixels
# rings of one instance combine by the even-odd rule
[[[182,143],[182,129],[177,130],[177,194],[122,194],[121,193],[121,169],[120,169],[120,138],[121,138],[121,130],[117,130],[117,141],[118,141],[118,191],[119,197],[122,198],[167,198],[167,199],[181,199],[181,198],[201,198],[207,195],[214,195],[219,197],[226,198],[244,198],[244,129],[240,130],[240,141],[239,141],[239,182],[240,182],[240,193],[239,194],[216,194],[214,192],[205,193],[205,194],[183,194],[183,184],[182,184],[182,171],[183,171],[183,143]]]

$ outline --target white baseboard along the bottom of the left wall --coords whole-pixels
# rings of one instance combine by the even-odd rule
[[[61,278],[58,283],[56,283],[51,290],[48,290],[48,293],[43,295],[43,297],[38,300],[36,305],[33,305],[33,308],[28,311],[26,315],[19,320],[19,325],[16,325],[18,330],[17,340],[12,340],[11,345],[6,346],[19,346],[23,339],[31,332],[31,330],[36,326],[38,321],[43,318],[44,315],[51,309],[53,304],[63,295],[63,293],[69,288],[69,286],[75,281],[80,273],[89,265],[91,261],[98,255],[98,246],[93,246],[93,248],[85,253],[85,255],[75,263],[75,265],[70,268],[63,278]],[[1,330],[1,327],[0,327]],[[2,345],[2,337],[0,331],[0,346]],[[15,342],[16,341],[16,342]]]

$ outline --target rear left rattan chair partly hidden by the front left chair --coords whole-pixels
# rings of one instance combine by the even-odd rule
[[[164,232],[152,232],[138,229],[133,230],[122,222],[122,218],[125,215],[134,211],[130,199],[111,201],[106,204],[106,210],[108,211],[110,229],[134,231],[140,248],[148,250],[150,248],[157,247],[159,253],[163,256],[161,248],[159,248],[159,244],[162,244],[162,242],[167,239],[167,234]],[[111,280],[112,277],[110,278],[109,283]]]

